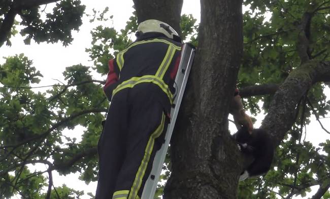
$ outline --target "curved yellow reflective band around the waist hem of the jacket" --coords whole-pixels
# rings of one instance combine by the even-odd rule
[[[169,86],[164,83],[164,81],[156,77],[154,75],[144,75],[141,77],[132,77],[120,85],[117,86],[116,89],[113,90],[112,92],[112,97],[118,93],[119,91],[125,89],[125,88],[133,88],[135,85],[140,84],[140,83],[153,83],[159,86],[159,88],[167,94],[167,96],[170,99],[170,102],[173,103],[173,94],[170,92]]]

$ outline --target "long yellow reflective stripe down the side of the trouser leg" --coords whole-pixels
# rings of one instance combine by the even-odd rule
[[[152,149],[153,149],[153,146],[154,146],[154,143],[155,143],[155,139],[157,137],[159,137],[160,134],[162,133],[162,131],[164,130],[164,123],[165,123],[165,114],[163,113],[162,117],[161,117],[160,125],[151,134],[151,136],[149,138],[149,141],[147,143],[143,159],[141,161],[141,165],[139,167],[138,173],[135,176],[133,186],[130,189],[128,199],[136,199],[138,191],[141,188],[143,176],[145,175],[145,172],[146,172],[149,160],[150,160],[150,156],[151,156],[151,152],[152,152]]]

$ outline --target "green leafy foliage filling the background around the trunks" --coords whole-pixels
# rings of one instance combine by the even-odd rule
[[[0,32],[4,31],[6,14],[13,10],[15,2],[0,1]],[[26,45],[31,39],[37,43],[69,45],[74,39],[72,30],[78,30],[82,24],[85,6],[78,0],[53,2],[56,2],[52,5],[53,12],[44,19],[40,5],[17,4],[20,10],[14,10],[21,19],[15,18],[18,21],[3,41],[10,45],[10,38],[18,33],[20,24]],[[280,85],[292,70],[301,67],[304,58],[301,37],[307,38],[309,59],[330,61],[330,1],[246,0],[244,5],[250,9],[243,13],[244,59],[238,79],[238,87],[243,91],[253,85]],[[90,17],[90,22],[112,19],[108,9],[95,11]],[[191,15],[181,17],[182,37],[197,46],[195,22]],[[32,89],[31,85],[38,84],[42,74],[23,54],[7,57],[0,65],[0,198],[15,194],[36,199],[79,198],[84,194],[65,185],[53,187],[51,172],[54,170],[62,175],[79,172],[80,179],[86,183],[97,180],[96,145],[109,103],[102,90],[104,80],[94,79],[91,72],[105,75],[108,60],[132,42],[131,35],[136,29],[135,13],[120,32],[115,27],[95,27],[91,31],[92,43],[86,49],[93,66],[67,67],[63,71],[67,83],[55,84],[47,92]],[[330,102],[323,94],[325,87],[315,84],[298,102],[295,123],[277,148],[274,169],[266,176],[240,183],[239,198],[304,197],[314,185],[324,190],[323,198],[330,198],[327,191],[330,140],[313,146],[304,139],[308,133],[318,134],[304,130],[312,115],[324,117],[330,109]],[[247,95],[245,106],[255,115],[261,109],[268,111],[274,93],[267,90],[264,93]],[[260,100],[262,107],[258,104]],[[80,142],[63,135],[63,131],[75,130],[78,126],[84,129]],[[45,164],[47,169],[32,171],[31,166],[35,164]],[[164,167],[170,168],[170,163]],[[170,171],[162,177],[169,175]],[[52,191],[43,191],[47,187]],[[158,195],[161,190],[160,186]],[[89,195],[93,197],[92,193]]]

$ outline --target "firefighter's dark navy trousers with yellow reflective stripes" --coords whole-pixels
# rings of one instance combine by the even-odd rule
[[[151,83],[118,92],[98,142],[96,199],[141,198],[169,118]]]

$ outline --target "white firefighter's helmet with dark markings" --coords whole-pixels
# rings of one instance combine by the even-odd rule
[[[175,31],[175,29],[173,29],[169,24],[155,19],[149,19],[141,22],[138,27],[138,32],[139,34],[147,32],[160,32],[171,39],[176,40],[178,37],[180,38],[177,31]]]

